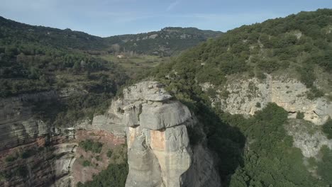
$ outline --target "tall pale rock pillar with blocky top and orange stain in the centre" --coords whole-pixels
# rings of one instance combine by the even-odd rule
[[[197,120],[162,85],[145,81],[130,86],[110,111],[127,126],[126,187],[220,186],[208,150],[189,144],[187,127],[198,125]]]

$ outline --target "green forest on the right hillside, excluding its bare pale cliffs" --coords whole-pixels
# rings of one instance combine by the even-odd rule
[[[332,150],[322,147],[319,157],[305,158],[285,130],[290,123],[307,123],[301,113],[288,120],[287,111],[270,103],[245,118],[222,111],[215,100],[228,98],[225,86],[232,79],[282,76],[305,84],[307,98],[331,101],[331,23],[332,10],[319,9],[241,26],[151,72],[204,123],[226,186],[331,186]],[[202,89],[206,83],[212,86]],[[309,133],[322,131],[313,129]],[[331,134],[331,120],[323,131]]]

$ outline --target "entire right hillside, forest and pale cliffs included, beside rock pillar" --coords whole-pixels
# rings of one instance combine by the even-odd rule
[[[242,26],[151,72],[213,119],[204,130],[226,186],[331,185],[331,18],[319,9]]]

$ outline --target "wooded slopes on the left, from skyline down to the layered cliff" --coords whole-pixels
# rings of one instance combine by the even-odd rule
[[[0,23],[0,98],[40,91],[64,94],[33,103],[35,115],[45,122],[70,126],[92,119],[128,80],[122,67],[89,55],[106,47],[102,38],[4,18]]]

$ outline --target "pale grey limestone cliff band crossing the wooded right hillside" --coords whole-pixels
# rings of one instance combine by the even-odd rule
[[[301,112],[304,113],[304,120],[316,125],[323,125],[332,116],[332,103],[325,98],[310,100],[306,97],[309,89],[296,79],[267,75],[264,81],[256,78],[230,81],[226,89],[228,96],[219,97],[219,100],[223,111],[232,114],[253,115],[272,102],[294,113],[290,118]]]

